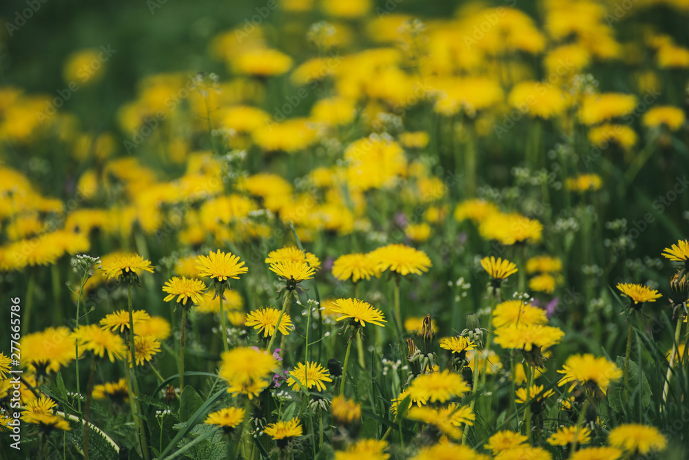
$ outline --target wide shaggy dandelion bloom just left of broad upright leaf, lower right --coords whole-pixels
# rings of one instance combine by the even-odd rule
[[[571,384],[569,391],[575,386],[584,386],[586,390],[599,389],[604,394],[608,391],[610,381],[622,377],[622,371],[615,363],[608,361],[605,357],[595,357],[590,353],[568,357],[562,370],[557,372],[563,374],[557,386]]]

